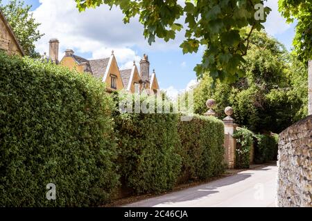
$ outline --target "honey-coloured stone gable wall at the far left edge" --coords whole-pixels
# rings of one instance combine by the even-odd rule
[[[8,22],[0,11],[0,49],[6,50],[9,55],[23,55],[17,40],[8,26]]]

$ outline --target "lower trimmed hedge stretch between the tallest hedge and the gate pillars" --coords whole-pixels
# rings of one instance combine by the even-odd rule
[[[132,101],[135,96],[130,95]],[[116,94],[117,105],[125,99],[120,97],[121,93]],[[182,122],[180,114],[116,111],[114,119],[122,184],[135,193],[161,193],[177,182],[205,180],[225,169],[224,125],[214,117],[195,115]]]

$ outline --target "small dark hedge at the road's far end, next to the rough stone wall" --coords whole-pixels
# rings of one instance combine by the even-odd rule
[[[254,135],[254,162],[263,164],[268,161],[277,160],[278,136],[277,135]]]

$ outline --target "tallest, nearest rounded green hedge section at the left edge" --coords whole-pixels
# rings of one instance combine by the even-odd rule
[[[118,174],[100,81],[0,52],[0,206],[97,206]],[[46,184],[56,200],[46,199]]]

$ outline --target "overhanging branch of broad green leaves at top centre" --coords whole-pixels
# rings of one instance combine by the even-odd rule
[[[262,23],[270,8],[263,6],[263,0],[194,0],[180,3],[176,0],[75,0],[80,11],[107,4],[119,6],[128,23],[139,16],[144,26],[144,37],[152,44],[155,37],[168,41],[175,39],[176,32],[185,30],[180,45],[183,53],[198,52],[204,46],[202,63],[194,70],[198,77],[210,73],[213,79],[233,81],[236,74],[243,75],[241,64],[246,54],[253,30],[263,29]],[[263,17],[259,18],[259,10]],[[182,19],[184,24],[182,25]]]

